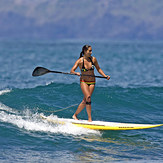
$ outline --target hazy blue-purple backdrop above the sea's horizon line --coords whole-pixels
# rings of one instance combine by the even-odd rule
[[[0,38],[163,40],[162,0],[0,0]]]

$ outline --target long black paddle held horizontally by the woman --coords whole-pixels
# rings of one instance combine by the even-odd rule
[[[61,71],[51,71],[48,70],[47,68],[44,67],[36,67],[32,73],[32,76],[41,76],[47,73],[59,73],[59,74],[66,74],[66,75],[76,75],[76,74],[71,74],[68,72],[61,72]],[[103,76],[94,76],[94,75],[80,75],[80,76],[90,76],[90,77],[96,77],[96,78],[107,78],[107,77],[103,77]]]

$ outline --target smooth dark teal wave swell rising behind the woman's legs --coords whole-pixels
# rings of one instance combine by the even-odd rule
[[[92,96],[93,119],[117,122],[160,123],[162,90],[163,87],[97,87]],[[53,113],[57,114],[58,117],[71,118],[77,109],[74,104],[79,104],[82,98],[83,94],[77,83],[51,83],[35,88],[12,89],[7,95],[0,96],[0,110],[23,116],[26,115],[24,111],[28,108],[32,112],[34,110],[38,113]],[[64,108],[72,105],[73,107],[64,110]],[[64,111],[54,113],[57,110]],[[85,109],[81,112],[79,118],[87,119]]]

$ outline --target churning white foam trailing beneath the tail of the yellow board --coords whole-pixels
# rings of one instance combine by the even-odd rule
[[[23,113],[25,113],[25,111]],[[57,116],[51,116],[57,118]],[[99,131],[76,127],[70,123],[65,125],[49,123],[46,120],[42,120],[40,114],[32,114],[29,110],[26,111],[25,115],[16,115],[1,111],[0,121],[13,124],[18,128],[23,128],[28,131],[50,132],[64,135],[100,134]]]

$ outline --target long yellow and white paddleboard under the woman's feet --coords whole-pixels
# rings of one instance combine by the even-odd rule
[[[117,123],[117,122],[104,122],[104,121],[92,121],[88,122],[87,120],[74,120],[74,119],[65,119],[52,117],[46,117],[40,115],[40,117],[48,122],[55,124],[66,124],[70,123],[78,127],[93,129],[93,130],[138,130],[138,129],[147,129],[163,126],[163,124],[132,124],[132,123]]]

